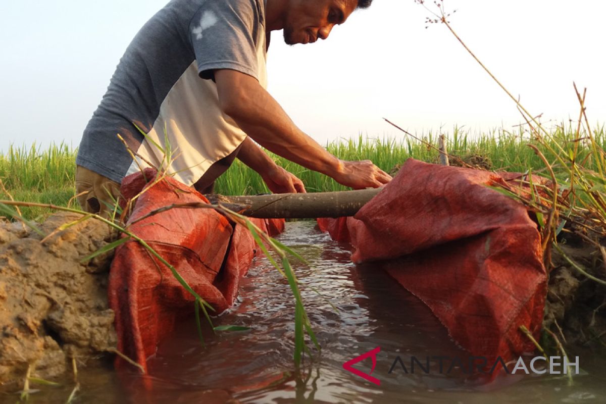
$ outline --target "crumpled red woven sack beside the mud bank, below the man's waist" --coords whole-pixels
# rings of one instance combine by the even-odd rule
[[[248,230],[213,209],[173,208],[137,221],[173,204],[208,203],[202,194],[175,179],[165,177],[154,184],[155,177],[156,171],[148,168],[145,176],[136,173],[122,180],[126,200],[145,189],[128,218],[128,230],[175,267],[213,306],[211,314],[220,314],[236,298],[239,279],[255,256],[255,241]],[[273,234],[284,230],[284,219],[253,221]],[[158,342],[175,329],[179,319],[191,317],[194,309],[194,297],[170,269],[134,240],[116,249],[108,299],[116,315],[118,350],[146,371],[146,359],[155,353]],[[122,363],[119,358],[116,361],[116,365]]]

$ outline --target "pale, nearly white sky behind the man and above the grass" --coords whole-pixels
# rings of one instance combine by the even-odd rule
[[[313,1],[313,0],[309,0]],[[166,0],[2,1],[0,150],[77,146],[136,31]],[[433,4],[433,2],[428,1]],[[453,28],[533,114],[559,123],[579,113],[606,122],[606,1],[445,0]],[[375,0],[327,41],[288,47],[274,32],[269,91],[302,130],[341,137],[471,133],[521,120],[507,96],[444,25],[425,28],[413,0]]]

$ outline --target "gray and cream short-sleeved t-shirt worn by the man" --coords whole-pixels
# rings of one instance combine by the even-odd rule
[[[122,56],[76,164],[116,182],[140,167],[168,167],[195,184],[246,137],[219,108],[213,71],[238,70],[266,88],[266,51],[264,0],[169,2]]]

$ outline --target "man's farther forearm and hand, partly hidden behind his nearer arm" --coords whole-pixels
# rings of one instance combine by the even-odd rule
[[[246,137],[244,142],[242,142],[242,147],[238,151],[238,159],[259,173],[273,193],[305,192],[303,182],[295,175],[277,165],[250,137]]]

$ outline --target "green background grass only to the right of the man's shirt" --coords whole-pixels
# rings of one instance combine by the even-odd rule
[[[598,127],[593,132],[596,141],[603,148],[606,142],[604,127]],[[570,150],[573,149],[574,142],[571,142],[571,139],[575,137],[573,128],[567,130],[557,128],[551,132],[551,135],[552,143],[557,142]],[[422,137],[422,139],[430,144],[437,144],[436,136],[431,133]],[[527,146],[528,143],[538,145],[539,150],[548,154],[545,147],[531,141],[527,133],[495,130],[480,136],[471,136],[455,128],[452,133],[448,134],[448,153],[458,156],[468,154],[486,156],[492,162],[495,170],[524,172],[530,169],[534,171],[544,168],[545,165],[539,156]],[[404,134],[399,139],[359,136],[356,139],[332,142],[327,145],[327,149],[335,156],[345,160],[369,159],[385,171],[390,171],[395,165],[402,164],[408,157],[427,162],[435,162],[438,157],[438,151],[415,139],[410,139]],[[584,159],[589,152],[588,145],[581,143],[578,150],[579,161]],[[309,192],[346,189],[330,177],[307,170],[274,154],[272,154],[272,157],[279,165],[301,178]],[[595,169],[592,161],[589,161],[588,165]],[[554,170],[560,177],[566,176],[566,170],[558,170],[558,167],[555,167]],[[216,192],[225,195],[238,195],[267,193],[268,190],[258,174],[236,161],[227,173],[219,178]]]

